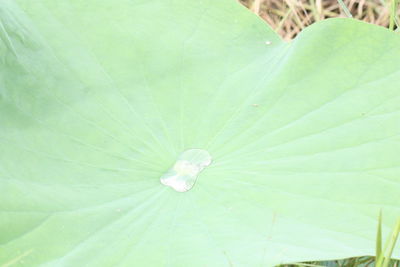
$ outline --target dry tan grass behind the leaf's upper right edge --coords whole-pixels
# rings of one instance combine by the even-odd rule
[[[304,27],[326,18],[348,17],[389,27],[394,0],[239,0],[258,14],[285,40],[293,39]],[[397,9],[397,20],[400,15]],[[397,24],[396,24],[397,25]],[[395,26],[396,28],[396,26]]]

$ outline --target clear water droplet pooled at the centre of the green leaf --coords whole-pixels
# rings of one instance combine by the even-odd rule
[[[160,181],[175,191],[189,191],[196,183],[199,173],[210,165],[211,161],[212,158],[206,150],[186,150],[179,155],[174,166],[161,176]]]

